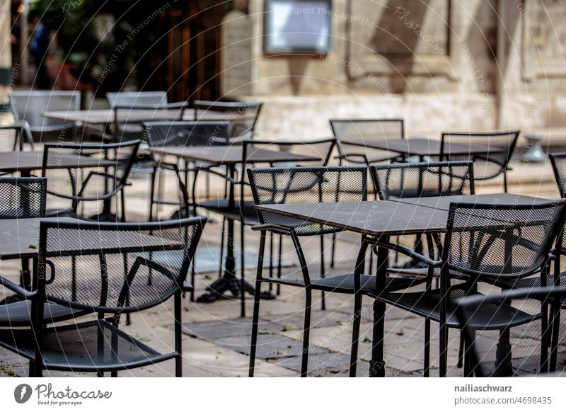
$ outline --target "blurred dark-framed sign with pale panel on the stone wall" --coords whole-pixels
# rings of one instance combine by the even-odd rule
[[[265,0],[265,53],[330,52],[332,16],[332,0]]]

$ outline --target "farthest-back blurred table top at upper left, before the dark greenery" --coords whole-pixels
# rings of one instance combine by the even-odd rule
[[[151,120],[180,120],[180,109],[119,109],[118,122],[149,122]],[[89,125],[105,125],[114,122],[114,110],[58,110],[43,113],[46,118],[64,120],[66,122],[82,122]],[[212,110],[199,110],[197,120],[238,119],[243,115],[230,115]],[[182,120],[195,120],[195,110],[185,109]]]

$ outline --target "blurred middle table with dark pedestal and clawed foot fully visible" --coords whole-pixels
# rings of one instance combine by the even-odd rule
[[[243,146],[241,144],[232,144],[229,146],[192,146],[192,147],[149,147],[147,149],[159,156],[175,156],[178,159],[185,159],[190,161],[204,161],[207,164],[214,166],[226,166],[228,168],[227,175],[231,178],[229,184],[229,197],[227,210],[235,210],[238,207],[234,195],[233,178],[236,173],[236,166],[241,164],[243,159]],[[320,158],[313,156],[306,156],[296,154],[289,151],[267,150],[267,149],[253,149],[248,154],[246,159],[247,163],[272,163],[284,161],[320,161]],[[194,202],[194,199],[193,199]],[[224,262],[224,275],[216,280],[208,287],[209,293],[203,294],[199,297],[198,302],[214,302],[226,290],[242,294],[241,316],[246,316],[245,302],[243,300],[244,290],[240,290],[239,280],[235,274],[235,261],[234,261],[234,219],[226,215],[228,220],[227,230],[227,251],[226,260]],[[243,249],[243,248],[242,248]],[[241,251],[243,255],[243,250]],[[242,269],[243,270],[243,258]],[[253,287],[246,283],[245,289],[253,294]]]

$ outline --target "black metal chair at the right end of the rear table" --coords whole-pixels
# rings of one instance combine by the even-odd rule
[[[473,161],[474,178],[485,181],[503,175],[503,185],[507,193],[507,171],[513,156],[519,130],[504,132],[443,132],[440,144],[441,161]],[[451,154],[450,144],[464,146],[483,146],[485,152],[470,154]]]

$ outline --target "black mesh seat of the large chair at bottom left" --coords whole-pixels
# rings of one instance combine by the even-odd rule
[[[35,339],[29,329],[0,331],[0,345],[30,360],[35,359]],[[126,370],[171,359],[105,320],[47,328],[42,343],[47,369],[75,372]]]

